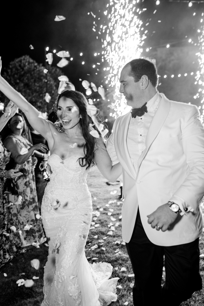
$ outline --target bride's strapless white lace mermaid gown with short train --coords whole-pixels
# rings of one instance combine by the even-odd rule
[[[41,306],[105,306],[117,300],[118,278],[109,279],[112,266],[89,264],[85,256],[92,202],[79,157],[62,160],[52,154],[48,160],[50,182],[41,212],[49,251]]]

